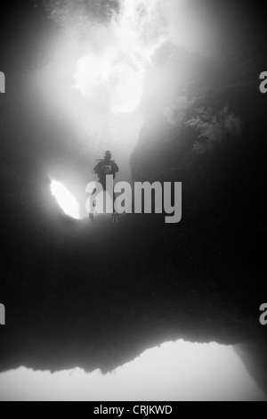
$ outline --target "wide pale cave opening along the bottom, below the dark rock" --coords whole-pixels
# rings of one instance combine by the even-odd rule
[[[0,399],[265,401],[266,395],[234,347],[176,341],[148,349],[108,374],[86,374],[80,368],[52,374],[21,367],[0,374]]]

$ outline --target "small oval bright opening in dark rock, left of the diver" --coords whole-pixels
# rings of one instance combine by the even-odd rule
[[[51,191],[65,214],[72,218],[80,218],[79,204],[64,185],[53,180]]]

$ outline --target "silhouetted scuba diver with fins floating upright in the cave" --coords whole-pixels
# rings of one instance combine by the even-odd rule
[[[116,161],[111,160],[111,159],[112,159],[111,152],[109,152],[109,151],[105,152],[104,158],[101,159],[101,160],[98,160],[99,162],[97,163],[95,168],[93,168],[93,173],[95,173],[98,176],[99,183],[102,185],[103,191],[106,191],[106,189],[107,189],[107,187],[106,187],[107,176],[112,175],[113,179],[115,179],[115,177],[117,176],[117,173],[119,171],[119,168],[117,167]],[[95,192],[96,191],[94,191],[94,193]],[[115,193],[114,192],[113,192],[113,198],[114,198],[113,201],[115,201]],[[90,214],[90,219],[94,223],[93,214]],[[117,224],[117,222],[118,222],[118,214],[115,211],[115,209],[113,209],[111,224]]]

